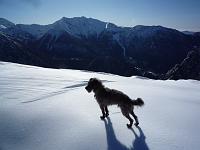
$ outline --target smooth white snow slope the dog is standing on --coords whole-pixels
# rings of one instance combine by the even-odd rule
[[[78,70],[0,62],[0,150],[198,150],[200,82],[155,81]],[[90,77],[104,80],[145,106],[135,108],[140,127],[116,106],[102,121]]]

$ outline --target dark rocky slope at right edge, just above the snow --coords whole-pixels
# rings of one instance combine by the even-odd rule
[[[190,51],[180,64],[176,64],[166,73],[165,79],[200,80],[200,51]]]

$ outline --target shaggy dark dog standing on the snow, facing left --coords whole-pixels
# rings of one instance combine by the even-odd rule
[[[139,125],[138,117],[135,115],[133,108],[134,106],[143,106],[144,101],[141,98],[136,100],[130,99],[126,94],[115,89],[109,89],[105,87],[102,82],[97,78],[91,78],[85,87],[88,93],[94,92],[94,97],[97,100],[99,107],[102,111],[102,116],[100,118],[103,120],[105,117],[109,116],[108,107],[109,105],[118,105],[121,109],[122,114],[129,120],[127,124],[128,128],[133,125],[133,119],[130,114],[135,119],[135,126]]]

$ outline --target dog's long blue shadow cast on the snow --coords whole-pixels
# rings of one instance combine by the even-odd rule
[[[137,127],[140,133],[139,135],[137,135],[132,128],[130,129],[134,134],[134,138],[132,147],[128,148],[116,138],[112,122],[109,117],[107,118],[107,120],[104,120],[104,124],[106,129],[108,150],[149,150],[148,145],[145,141],[145,135],[140,127]]]

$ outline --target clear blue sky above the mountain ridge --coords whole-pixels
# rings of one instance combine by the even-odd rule
[[[0,17],[16,24],[50,24],[79,16],[118,26],[200,31],[200,0],[0,0]]]

